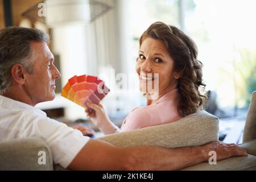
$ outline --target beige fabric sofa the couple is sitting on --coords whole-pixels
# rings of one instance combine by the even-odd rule
[[[174,123],[151,126],[144,129],[106,135],[97,139],[105,140],[118,147],[200,146],[218,140],[218,118],[206,111],[188,115]],[[256,170],[256,92],[246,117],[243,143],[239,145],[248,156],[232,157],[217,164],[200,163],[182,170]],[[45,164],[39,165],[38,151],[46,154]],[[41,138],[24,138],[0,142],[0,170],[65,170],[53,164],[51,149]]]

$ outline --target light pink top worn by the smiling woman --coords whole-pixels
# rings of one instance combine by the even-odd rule
[[[153,105],[135,107],[123,121],[120,132],[171,123],[182,118],[177,111],[177,91],[171,90]]]

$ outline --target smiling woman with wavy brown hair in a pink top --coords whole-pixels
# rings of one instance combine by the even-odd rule
[[[102,105],[89,104],[88,117],[104,134],[129,131],[171,123],[200,110],[206,96],[200,93],[202,63],[191,38],[174,26],[156,22],[139,40],[136,71],[140,89],[147,96],[147,106],[136,107],[118,129]],[[158,90],[148,85],[158,83]]]

